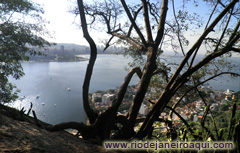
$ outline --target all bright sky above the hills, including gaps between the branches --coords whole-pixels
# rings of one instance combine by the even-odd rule
[[[75,17],[73,14],[69,13],[69,6],[73,5],[73,2],[71,0],[33,0],[36,3],[39,3],[42,5],[43,9],[45,10],[45,13],[43,17],[50,21],[50,24],[47,25],[47,29],[53,33],[53,39],[47,38],[50,42],[55,43],[74,43],[79,45],[88,45],[87,41],[83,38],[82,30],[73,22],[76,20],[79,20],[79,16]],[[74,1],[74,0],[72,0]],[[75,0],[77,1],[77,0]],[[130,2],[133,2],[134,0],[130,0]],[[179,0],[175,1],[176,9],[179,6]],[[189,3],[188,3],[189,4]],[[171,7],[171,4],[169,3],[169,8]],[[190,11],[197,11],[197,13],[201,15],[205,15],[206,18],[204,18],[205,22],[208,19],[209,16],[209,8],[206,7],[205,3],[199,3],[198,7],[193,7],[190,9]],[[170,12],[170,9],[168,11],[168,14],[172,14]],[[200,28],[201,32],[203,31],[203,28]],[[192,36],[191,31],[189,32],[190,37],[190,45],[193,45],[195,41],[198,39],[198,36]],[[103,45],[100,43],[100,38],[107,38],[105,33],[97,33],[94,31],[90,31],[90,35],[95,40],[97,44]],[[100,37],[101,36],[101,37]]]

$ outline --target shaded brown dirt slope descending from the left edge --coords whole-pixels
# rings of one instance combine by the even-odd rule
[[[46,123],[38,121],[44,127]],[[101,146],[65,132],[49,132],[34,118],[0,105],[0,152],[105,153]],[[109,152],[109,151],[108,151]]]

